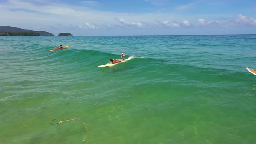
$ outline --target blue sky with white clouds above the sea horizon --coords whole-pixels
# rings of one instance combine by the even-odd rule
[[[256,34],[256,0],[0,0],[0,26],[73,36]]]

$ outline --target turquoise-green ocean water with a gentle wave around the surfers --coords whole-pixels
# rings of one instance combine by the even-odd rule
[[[246,67],[256,35],[0,36],[1,143],[256,144]]]

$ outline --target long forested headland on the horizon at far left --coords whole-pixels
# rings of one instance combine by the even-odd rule
[[[46,31],[33,31],[11,26],[0,26],[0,36],[54,36]]]

